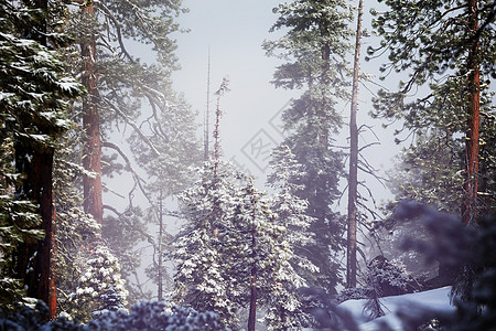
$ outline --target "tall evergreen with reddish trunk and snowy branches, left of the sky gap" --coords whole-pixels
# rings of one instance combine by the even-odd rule
[[[182,11],[181,1],[98,1],[80,6],[73,13],[68,30],[80,45],[79,71],[88,89],[83,103],[85,129],[83,164],[95,172],[84,178],[85,210],[101,223],[101,158],[112,122],[126,124],[142,136],[136,120],[144,100],[157,111],[165,111],[165,94],[170,77],[177,66],[170,34],[177,31],[173,19]],[[157,13],[157,14],[155,14]],[[144,62],[128,49],[134,41],[149,49],[151,58]],[[103,140],[101,140],[103,139]]]

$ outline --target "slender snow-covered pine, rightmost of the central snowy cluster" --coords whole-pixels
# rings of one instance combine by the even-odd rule
[[[303,247],[314,241],[309,231],[313,222],[306,214],[309,204],[295,195],[301,189],[295,181],[304,173],[295,156],[284,145],[272,151],[271,168],[268,175],[268,184],[274,190],[271,209],[277,224],[284,228],[280,241],[287,242],[290,259],[278,269],[277,290],[272,293],[265,320],[268,328],[274,330],[308,327],[311,317],[304,312],[304,298],[298,289],[306,286],[304,279],[313,278],[312,274],[319,273],[319,268],[302,254]]]

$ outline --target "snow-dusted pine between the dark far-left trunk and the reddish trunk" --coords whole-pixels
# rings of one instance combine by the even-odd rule
[[[105,229],[83,210],[76,179],[86,170],[75,162],[78,141],[74,136],[77,131],[73,129],[64,136],[61,139],[63,148],[55,153],[54,255],[57,312],[87,321],[94,313],[123,308],[128,293],[120,265],[101,241]],[[123,234],[128,235],[128,232],[123,231]],[[129,242],[121,234],[117,237]]]

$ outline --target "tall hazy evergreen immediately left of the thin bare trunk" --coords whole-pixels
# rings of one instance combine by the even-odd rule
[[[313,285],[335,291],[341,281],[336,254],[343,248],[344,224],[331,206],[339,195],[343,153],[333,149],[332,135],[342,125],[336,102],[347,97],[346,56],[353,31],[351,8],[342,1],[292,1],[274,9],[279,19],[271,31],[288,30],[284,36],[263,44],[268,55],[287,61],[274,74],[277,87],[303,89],[282,119],[288,145],[306,173],[298,180],[296,195],[309,202],[315,222],[315,243],[304,247],[320,273]]]

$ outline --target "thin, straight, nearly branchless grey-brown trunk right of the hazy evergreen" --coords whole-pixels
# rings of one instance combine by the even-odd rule
[[[357,228],[357,189],[358,189],[358,129],[356,111],[358,107],[358,74],[360,65],[363,0],[358,3],[356,26],[355,58],[353,64],[352,106],[349,114],[349,179],[348,179],[348,218],[347,218],[347,260],[346,286],[356,287],[356,228]]]

